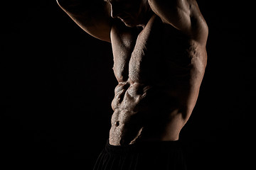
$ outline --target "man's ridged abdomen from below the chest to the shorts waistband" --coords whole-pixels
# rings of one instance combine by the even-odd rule
[[[178,140],[185,124],[183,118],[172,103],[165,106],[163,101],[169,100],[159,94],[154,86],[129,80],[119,82],[112,101],[110,145],[129,145],[141,140]]]

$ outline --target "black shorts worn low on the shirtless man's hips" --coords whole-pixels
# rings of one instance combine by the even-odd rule
[[[94,170],[185,170],[179,141],[138,142],[113,146],[107,142]]]

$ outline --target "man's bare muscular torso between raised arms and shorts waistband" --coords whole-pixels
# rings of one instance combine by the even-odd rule
[[[205,50],[156,15],[143,30],[117,22],[111,41],[118,85],[110,144],[178,140],[196,103]]]

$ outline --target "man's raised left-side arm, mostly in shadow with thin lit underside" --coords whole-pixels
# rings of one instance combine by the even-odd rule
[[[110,6],[103,0],[57,0],[60,8],[68,13],[85,32],[100,40],[110,42]]]

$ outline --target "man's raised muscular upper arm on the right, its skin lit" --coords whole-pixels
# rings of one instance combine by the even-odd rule
[[[164,23],[171,24],[194,40],[206,45],[208,26],[196,0],[148,0]]]

